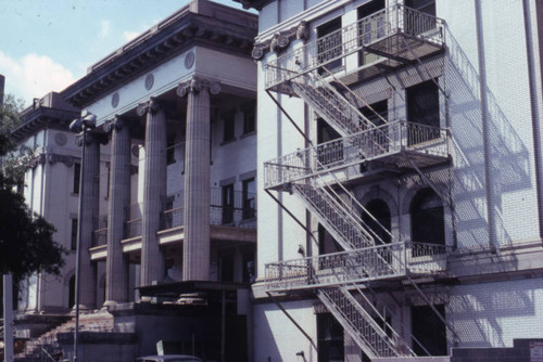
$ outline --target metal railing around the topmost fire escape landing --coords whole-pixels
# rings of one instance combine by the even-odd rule
[[[389,7],[268,62],[266,88],[274,88],[346,55],[370,50],[372,44],[397,35],[408,37],[412,41],[432,44],[431,50],[435,51],[444,41],[442,28],[443,21],[435,16],[403,4]],[[382,46],[378,48],[381,53],[392,52],[390,55],[393,57],[407,51],[397,41],[388,41],[387,46],[391,44],[394,49],[383,49]]]

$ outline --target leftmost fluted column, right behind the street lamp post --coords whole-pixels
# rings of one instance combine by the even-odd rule
[[[83,160],[81,182],[81,215],[78,222],[81,228],[80,264],[79,264],[79,309],[96,307],[96,266],[90,260],[89,248],[92,247],[94,220],[98,220],[100,196],[100,143],[98,137],[87,131],[85,140],[85,159]],[[76,142],[83,145],[83,134]]]

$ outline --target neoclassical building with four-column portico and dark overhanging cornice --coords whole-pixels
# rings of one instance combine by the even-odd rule
[[[156,354],[161,342],[169,352],[207,361],[248,360],[256,253],[256,64],[250,56],[256,29],[254,14],[195,0],[61,92],[80,111],[67,118],[97,118],[86,140],[78,135],[86,153],[74,165],[84,165],[83,178],[79,166],[64,172],[81,183],[84,195],[79,359],[129,361]],[[75,138],[65,129],[62,134]],[[80,148],[71,150],[80,157]],[[71,160],[59,157],[68,167]],[[65,208],[60,201],[72,185],[64,186],[55,185],[63,190],[50,194],[48,207],[71,225],[65,219],[78,197]],[[43,295],[56,295],[55,312],[73,307],[71,276],[56,283],[59,292],[42,286]],[[30,307],[49,312],[43,301]],[[24,329],[23,320],[31,318],[20,319]],[[54,338],[36,336],[27,345],[49,338],[71,358],[71,328],[68,321]],[[97,342],[102,348],[92,348]]]

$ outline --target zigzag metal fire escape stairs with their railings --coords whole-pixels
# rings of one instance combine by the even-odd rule
[[[377,22],[379,24],[377,29],[369,27],[377,33],[367,33],[368,27],[364,26],[366,24],[364,22]],[[286,185],[285,189],[301,196],[307,208],[348,250],[343,255],[324,256],[327,259],[320,259],[321,256],[319,256],[316,259],[317,264],[314,259],[302,259],[301,263],[300,260],[296,261],[298,264],[278,263],[275,277],[268,275],[274,266],[266,266],[266,280],[279,281],[279,285],[285,280],[289,280],[293,283],[293,287],[298,287],[296,285],[316,287],[321,302],[370,358],[414,355],[414,353],[408,344],[393,332],[386,318],[375,310],[365,293],[358,289],[361,300],[357,300],[345,283],[353,281],[364,283],[381,276],[397,277],[407,274],[405,243],[377,245],[382,241],[379,241],[376,233],[371,233],[370,228],[362,222],[356,216],[357,212],[352,212],[349,208],[349,199],[342,199],[333,188],[323,184],[323,180],[319,179],[321,179],[320,176],[327,174],[331,176],[331,181],[337,182],[338,179],[331,173],[334,167],[345,167],[356,160],[359,163],[361,159],[386,154],[393,142],[388,128],[378,128],[362,115],[349,100],[328,83],[326,78],[320,77],[319,68],[323,69],[324,65],[361,50],[384,56],[389,53],[389,57],[396,62],[402,61],[402,56],[406,56],[404,60],[412,61],[409,54],[420,56],[424,50],[414,51],[412,43],[415,43],[409,42],[413,39],[394,38],[395,35],[404,33],[411,38],[433,42],[437,50],[441,48],[443,38],[442,31],[434,30],[441,29],[441,21],[433,16],[403,5],[394,5],[344,27],[337,34],[329,35],[329,39],[318,39],[278,59],[275,63],[269,62],[266,66],[268,91],[280,91],[300,96],[344,137],[336,141],[337,147],[331,147],[334,158],[332,157],[330,163],[323,163],[318,157],[318,150],[315,152],[313,148],[303,152],[302,157],[300,153],[296,153],[295,157],[301,159],[298,165],[277,161],[267,163],[267,168],[275,167],[277,170],[277,177],[273,183]],[[340,39],[339,42],[338,39]],[[323,47],[323,43],[328,40],[333,40],[330,41],[332,44],[336,43],[333,49]],[[337,81],[336,77],[331,76],[331,78]],[[355,142],[350,142],[354,138],[348,139],[361,132],[365,133],[358,139],[370,146],[363,147],[359,144],[356,146]],[[376,142],[375,137],[368,137],[369,132],[379,134],[382,141]],[[353,146],[345,152],[345,145],[348,148],[349,145]],[[323,151],[323,147],[319,151]],[[376,151],[371,151],[372,148]],[[315,166],[312,167],[312,165]],[[268,174],[268,169],[266,174]],[[349,193],[345,194],[351,199],[353,198]],[[391,251],[397,247],[403,250]],[[325,263],[325,260],[329,263]],[[326,283],[328,285],[325,286]],[[354,284],[351,286],[357,288]]]

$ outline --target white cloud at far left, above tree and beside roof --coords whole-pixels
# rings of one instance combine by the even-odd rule
[[[0,51],[0,72],[5,76],[5,93],[30,104],[51,91],[62,91],[75,81],[72,72],[46,55],[27,54],[18,60]]]

